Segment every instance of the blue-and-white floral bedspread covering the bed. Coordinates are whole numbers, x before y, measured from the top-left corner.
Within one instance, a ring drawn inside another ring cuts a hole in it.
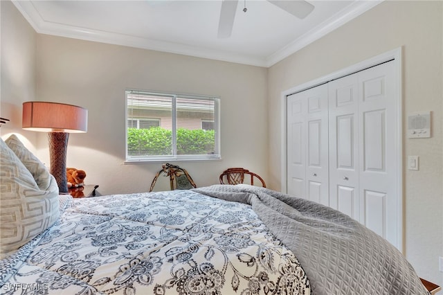
[[[1,294],[311,294],[251,206],[191,190],[68,198],[0,261]]]

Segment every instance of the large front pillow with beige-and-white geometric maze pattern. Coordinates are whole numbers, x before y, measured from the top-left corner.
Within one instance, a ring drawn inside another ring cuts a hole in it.
[[[41,190],[28,168],[0,138],[0,259],[17,251],[59,217],[57,183]]]

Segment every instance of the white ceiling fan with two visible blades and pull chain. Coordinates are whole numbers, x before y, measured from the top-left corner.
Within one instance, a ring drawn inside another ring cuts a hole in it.
[[[291,15],[304,19],[314,10],[314,6],[304,0],[267,0],[273,5],[282,8]],[[233,31],[235,12],[237,12],[238,0],[223,0],[221,2],[220,19],[219,19],[219,38],[228,38]],[[243,10],[246,12],[246,7]]]

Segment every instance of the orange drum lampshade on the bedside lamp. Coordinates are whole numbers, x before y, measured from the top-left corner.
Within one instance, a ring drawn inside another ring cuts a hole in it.
[[[24,102],[21,127],[39,132],[87,132],[88,110],[58,102]]]

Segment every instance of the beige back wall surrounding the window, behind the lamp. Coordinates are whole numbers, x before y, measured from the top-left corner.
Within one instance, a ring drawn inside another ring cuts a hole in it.
[[[124,164],[128,88],[220,96],[221,161],[177,163],[197,186],[217,184],[228,167],[244,166],[266,179],[264,68],[37,35],[36,69],[38,100],[88,109],[88,132],[70,135],[67,166],[86,170],[86,183],[99,184],[102,194],[147,191],[161,169],[161,163]],[[48,161],[46,143],[38,156]]]

